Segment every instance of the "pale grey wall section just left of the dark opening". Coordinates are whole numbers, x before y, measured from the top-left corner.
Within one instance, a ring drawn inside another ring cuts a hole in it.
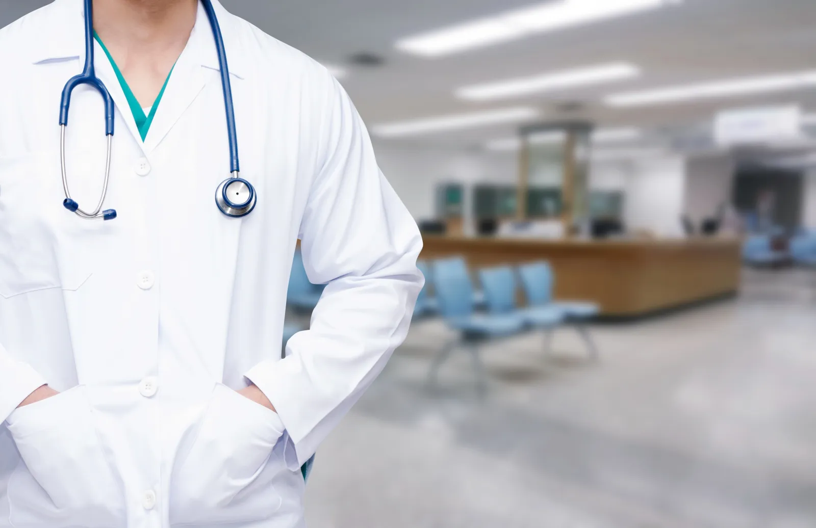
[[[685,163],[685,206],[695,224],[731,203],[736,163],[729,154],[689,158]]]

